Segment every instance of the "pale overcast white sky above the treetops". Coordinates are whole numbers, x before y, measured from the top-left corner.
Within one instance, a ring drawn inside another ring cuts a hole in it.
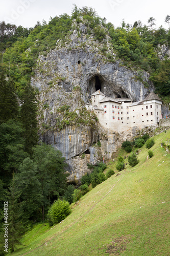
[[[120,26],[122,19],[134,24],[141,20],[147,25],[148,19],[156,19],[156,27],[168,28],[164,20],[170,15],[169,0],[1,0],[0,20],[6,23],[34,27],[37,21],[50,20],[63,13],[71,14],[73,4],[78,7],[88,6],[96,10],[102,18],[106,17],[115,27]]]

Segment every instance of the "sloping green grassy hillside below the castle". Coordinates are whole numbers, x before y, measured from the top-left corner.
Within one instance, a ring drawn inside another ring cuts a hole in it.
[[[139,164],[92,189],[62,223],[37,225],[12,255],[170,255],[167,138],[155,136],[151,159],[143,146]]]

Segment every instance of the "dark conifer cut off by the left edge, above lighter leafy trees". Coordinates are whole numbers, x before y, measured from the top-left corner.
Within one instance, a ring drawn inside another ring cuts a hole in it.
[[[0,123],[9,119],[16,119],[18,115],[18,101],[15,94],[15,83],[6,80],[4,72],[0,75]]]

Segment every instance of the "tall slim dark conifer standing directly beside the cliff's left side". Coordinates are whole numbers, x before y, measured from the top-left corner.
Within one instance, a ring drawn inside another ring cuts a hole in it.
[[[38,142],[37,128],[37,103],[36,93],[30,83],[27,84],[21,96],[20,120],[25,129],[24,137],[26,139],[26,151],[32,154],[32,147]]]

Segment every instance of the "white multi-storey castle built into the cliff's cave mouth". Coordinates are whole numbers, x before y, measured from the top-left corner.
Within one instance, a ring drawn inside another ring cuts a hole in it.
[[[111,98],[100,90],[91,95],[91,104],[86,109],[93,111],[102,126],[115,132],[125,132],[136,126],[157,125],[162,118],[162,100],[150,93],[143,101],[133,102],[129,98]]]

